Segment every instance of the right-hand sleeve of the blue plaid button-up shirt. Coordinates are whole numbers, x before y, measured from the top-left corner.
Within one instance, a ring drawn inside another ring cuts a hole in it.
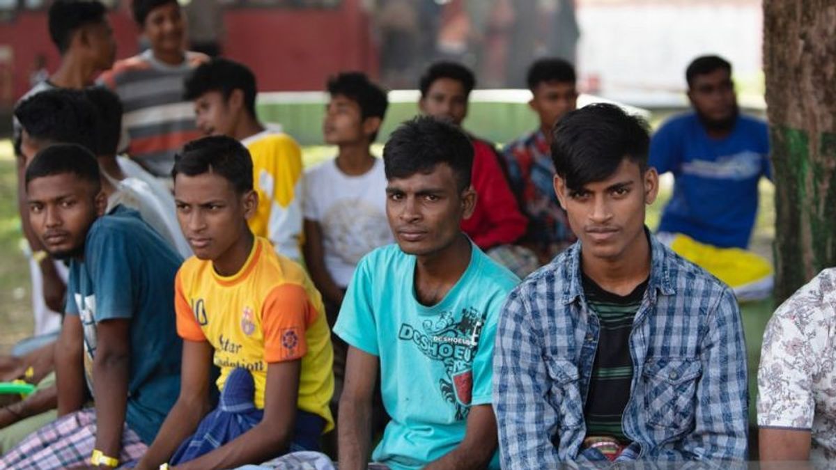
[[[747,458],[749,381],[737,299],[723,289],[702,339],[702,375],[696,382],[694,430],[671,452],[685,460]]]

